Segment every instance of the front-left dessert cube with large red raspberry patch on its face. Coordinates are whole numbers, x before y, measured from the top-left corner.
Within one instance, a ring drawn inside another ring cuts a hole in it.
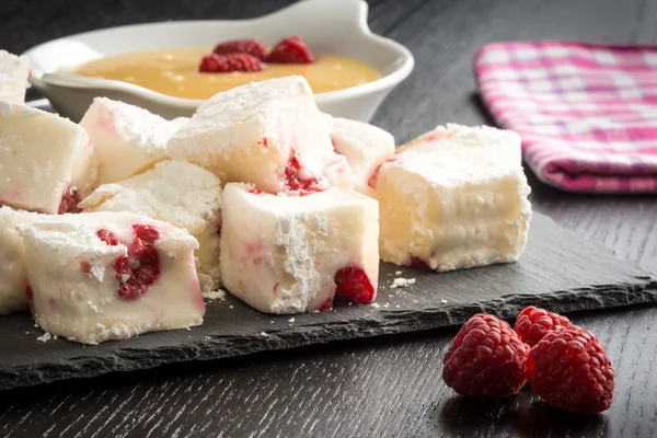
[[[44,331],[96,344],[203,323],[187,232],[130,212],[42,216],[19,231]]]

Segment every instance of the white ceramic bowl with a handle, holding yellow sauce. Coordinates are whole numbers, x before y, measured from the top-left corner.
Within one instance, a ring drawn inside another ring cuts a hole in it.
[[[163,22],[87,32],[41,44],[24,55],[32,62],[32,84],[58,113],[73,120],[100,95],[174,118],[192,115],[203,100],[172,97],[120,81],[44,73],[126,51],[210,47],[240,37],[274,45],[284,36],[299,35],[315,54],[353,57],[381,72],[377,81],[315,95],[325,113],[369,122],[383,99],[411,73],[414,60],[401,44],[371,33],[367,12],[361,0],[304,0],[253,20]]]

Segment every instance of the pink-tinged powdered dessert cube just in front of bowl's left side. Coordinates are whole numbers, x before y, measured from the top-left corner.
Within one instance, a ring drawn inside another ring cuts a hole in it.
[[[115,183],[169,158],[175,123],[127,103],[96,97],[80,122],[99,154],[96,186]]]

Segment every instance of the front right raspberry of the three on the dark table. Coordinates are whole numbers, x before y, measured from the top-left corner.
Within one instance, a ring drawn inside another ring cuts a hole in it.
[[[550,332],[533,346],[527,380],[548,404],[570,414],[598,414],[613,397],[613,369],[602,344],[576,325]]]

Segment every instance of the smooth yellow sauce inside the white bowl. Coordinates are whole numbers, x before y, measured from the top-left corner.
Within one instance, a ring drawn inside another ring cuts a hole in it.
[[[200,73],[198,65],[211,48],[176,48],[122,54],[100,58],[72,71],[76,74],[134,83],[163,94],[208,99],[220,91],[253,81],[303,76],[314,93],[324,93],[376,81],[373,67],[337,55],[322,55],[310,65],[266,64],[257,72]]]

